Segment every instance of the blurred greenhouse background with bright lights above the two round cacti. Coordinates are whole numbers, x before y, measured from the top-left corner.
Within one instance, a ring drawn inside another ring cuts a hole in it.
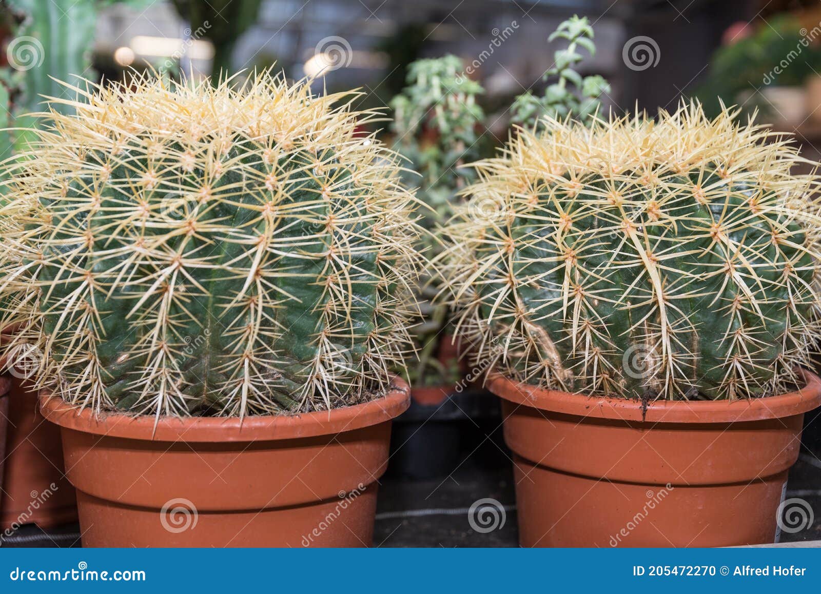
[[[671,107],[697,95],[764,106],[802,132],[821,121],[821,5],[798,0],[9,0],[3,44],[30,31],[47,60],[89,53],[89,66],[118,80],[126,68],[207,75],[268,68],[317,76],[318,90],[360,88],[368,107],[387,106],[421,57],[461,57],[484,85],[488,129],[504,134],[507,107],[539,90],[561,45],[548,34],[587,16],[597,52],[581,74],[600,74],[619,111]],[[26,5],[34,7],[26,15]],[[16,10],[13,10],[16,9]],[[44,28],[62,21],[72,46]],[[17,21],[17,22],[15,22]],[[802,33],[803,32],[803,33]],[[809,44],[805,44],[809,42]],[[6,57],[5,55],[3,57]],[[24,57],[25,59],[25,57]],[[36,59],[36,57],[35,57]],[[776,72],[778,70],[779,72]],[[71,72],[71,74],[77,74]],[[89,71],[85,72],[86,75]],[[800,126],[799,126],[800,125]]]

